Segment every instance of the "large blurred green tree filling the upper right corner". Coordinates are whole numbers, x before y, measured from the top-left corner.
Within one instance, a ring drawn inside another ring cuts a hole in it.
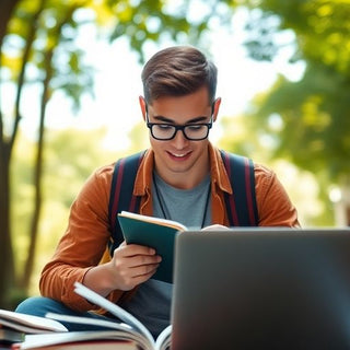
[[[273,61],[288,47],[291,62],[305,62],[299,81],[279,77],[257,96],[250,109],[255,132],[269,136],[275,158],[315,173],[326,198],[329,184],[350,184],[350,3],[260,0],[254,5],[259,10],[252,11],[248,24],[250,56]]]

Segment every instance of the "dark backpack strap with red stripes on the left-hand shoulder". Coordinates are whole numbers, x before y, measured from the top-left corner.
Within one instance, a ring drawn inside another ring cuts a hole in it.
[[[140,197],[133,196],[133,184],[144,151],[122,158],[115,164],[109,192],[108,219],[110,225],[112,244],[109,250],[122,242],[122,233],[117,220],[117,213],[127,210],[138,212]]]

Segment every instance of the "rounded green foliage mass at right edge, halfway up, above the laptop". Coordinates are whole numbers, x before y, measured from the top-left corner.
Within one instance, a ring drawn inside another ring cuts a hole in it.
[[[340,73],[310,63],[300,82],[281,78],[276,83],[256,115],[258,128],[276,133],[276,156],[288,156],[308,171],[327,170],[337,182],[350,172],[349,92]],[[272,122],[276,113],[278,130]]]

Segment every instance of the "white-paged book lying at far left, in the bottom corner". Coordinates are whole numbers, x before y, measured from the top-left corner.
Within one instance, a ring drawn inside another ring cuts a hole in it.
[[[18,330],[23,334],[68,331],[62,324],[55,319],[25,315],[8,310],[0,310],[0,326]]]

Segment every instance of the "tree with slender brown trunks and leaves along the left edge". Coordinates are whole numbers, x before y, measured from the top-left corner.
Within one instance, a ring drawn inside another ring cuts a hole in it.
[[[14,100],[12,118],[3,116],[1,114],[1,149],[7,150],[7,158],[1,159],[1,168],[4,170],[4,174],[9,174],[11,154],[15,139],[18,137],[18,130],[20,120],[25,117],[22,106],[22,96],[25,86],[30,84],[36,84],[42,89],[42,94],[38,97],[39,104],[39,122],[38,122],[38,137],[37,137],[37,152],[34,160],[34,184],[35,184],[35,197],[32,223],[28,232],[31,237],[30,247],[27,252],[27,259],[24,271],[21,276],[16,276],[14,280],[14,264],[13,256],[4,255],[7,259],[0,268],[0,276],[3,281],[3,291],[0,293],[1,304],[7,304],[7,298],[10,295],[9,291],[14,285],[26,289],[28,279],[33,270],[35,245],[37,241],[37,225],[39,220],[39,213],[42,208],[42,166],[43,166],[43,151],[44,151],[44,130],[45,130],[45,116],[46,107],[50,96],[52,94],[55,83],[59,81],[55,79],[59,77],[67,78],[68,73],[63,74],[62,69],[67,70],[69,67],[69,79],[66,79],[65,85],[61,85],[66,93],[74,100],[77,103],[79,96],[83,91],[89,90],[91,86],[90,71],[84,69],[82,65],[74,66],[80,52],[78,50],[69,50],[69,42],[71,38],[67,37],[67,26],[74,27],[72,23],[72,14],[77,10],[77,3],[62,7],[60,1],[46,1],[40,0],[37,2],[21,1],[15,8],[14,15],[10,19],[7,26],[5,36],[3,36],[1,46],[1,83],[7,83],[7,86],[15,85],[16,94]],[[49,19],[55,19],[51,25],[47,25]],[[66,32],[63,32],[63,27]],[[66,49],[66,56],[68,57],[67,63],[55,61],[55,58],[59,56],[59,50]],[[56,57],[55,55],[56,54]],[[75,68],[75,69],[74,69]],[[31,69],[31,77],[27,74],[27,70]],[[8,74],[5,74],[8,72]],[[4,78],[3,78],[4,77]],[[77,83],[79,82],[80,83]],[[78,89],[80,86],[80,89]],[[8,125],[5,121],[12,121]],[[9,127],[10,126],[10,127]],[[4,152],[3,152],[4,153]],[[2,178],[1,178],[2,179]],[[8,243],[4,252],[12,252],[12,235],[10,225],[10,185],[9,178],[2,179],[4,187],[4,196],[1,197],[1,201],[8,208],[8,211],[3,213],[1,225],[7,228],[2,230],[2,237]],[[2,213],[2,212],[1,212]],[[10,268],[9,268],[10,266]]]

